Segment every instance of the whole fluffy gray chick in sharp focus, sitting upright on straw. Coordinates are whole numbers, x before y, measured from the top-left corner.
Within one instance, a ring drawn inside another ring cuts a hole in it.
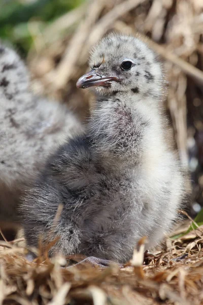
[[[177,219],[184,178],[166,142],[160,63],[138,38],[109,35],[77,86],[99,93],[85,135],[61,145],[24,198],[28,245],[126,262],[142,236],[157,245]],[[63,209],[54,218],[59,204]]]

